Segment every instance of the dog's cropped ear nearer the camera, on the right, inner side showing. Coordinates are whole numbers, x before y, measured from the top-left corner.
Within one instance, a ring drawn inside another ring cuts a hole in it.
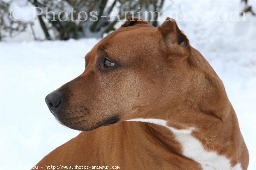
[[[174,19],[167,17],[165,22],[158,27],[158,29],[161,31],[166,45],[177,43],[184,50],[189,50],[189,40],[186,35],[180,31]]]

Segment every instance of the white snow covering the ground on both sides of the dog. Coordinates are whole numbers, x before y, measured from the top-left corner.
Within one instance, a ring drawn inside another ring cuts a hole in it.
[[[199,11],[199,21],[180,21],[178,25],[223,80],[249,149],[249,170],[254,170],[256,17],[247,14],[245,22],[205,20],[208,11],[241,10],[240,2],[198,2],[166,3],[164,11]],[[1,170],[8,166],[31,167],[79,133],[54,119],[44,97],[82,73],[83,57],[97,41],[0,42]]]

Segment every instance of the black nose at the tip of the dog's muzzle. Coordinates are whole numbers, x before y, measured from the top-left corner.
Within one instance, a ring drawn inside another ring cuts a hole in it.
[[[54,91],[45,97],[45,102],[52,112],[54,112],[61,105],[61,100],[62,96],[58,91]]]

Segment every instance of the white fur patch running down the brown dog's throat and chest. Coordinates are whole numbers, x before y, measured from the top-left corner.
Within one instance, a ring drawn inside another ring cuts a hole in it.
[[[127,121],[154,123],[168,128],[175,135],[177,142],[182,145],[183,156],[197,161],[203,170],[242,170],[240,163],[232,167],[226,156],[204,150],[202,143],[191,135],[193,127],[185,130],[175,129],[167,126],[167,121],[162,119],[130,119]]]

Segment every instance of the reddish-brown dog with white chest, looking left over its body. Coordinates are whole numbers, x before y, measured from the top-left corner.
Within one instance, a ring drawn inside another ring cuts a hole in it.
[[[224,86],[174,20],[154,28],[128,18],[85,59],[79,77],[46,97],[61,124],[84,132],[38,167],[247,169]]]

